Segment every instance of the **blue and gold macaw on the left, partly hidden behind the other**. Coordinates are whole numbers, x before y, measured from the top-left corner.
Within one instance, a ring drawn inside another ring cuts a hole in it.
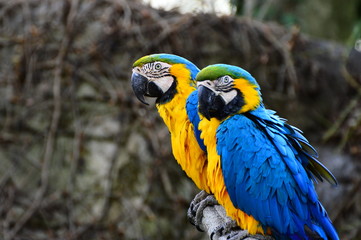
[[[199,69],[185,58],[152,54],[133,64],[132,88],[137,98],[156,98],[156,107],[171,134],[175,159],[198,188],[210,192],[207,157],[198,130],[198,95],[195,76]]]

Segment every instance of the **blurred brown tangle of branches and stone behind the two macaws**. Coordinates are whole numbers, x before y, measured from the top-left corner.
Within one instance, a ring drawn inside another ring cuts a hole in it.
[[[207,239],[130,87],[159,52],[250,71],[338,178],[317,188],[341,239],[361,239],[360,0],[1,0],[0,33],[0,239]]]

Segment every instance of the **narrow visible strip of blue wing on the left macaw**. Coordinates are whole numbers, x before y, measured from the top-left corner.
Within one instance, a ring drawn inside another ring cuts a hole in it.
[[[198,91],[193,91],[187,98],[186,103],[187,115],[191,123],[193,124],[194,135],[200,148],[203,151],[207,151],[204,145],[203,139],[201,139],[201,131],[198,129],[199,122],[201,121],[198,115]]]

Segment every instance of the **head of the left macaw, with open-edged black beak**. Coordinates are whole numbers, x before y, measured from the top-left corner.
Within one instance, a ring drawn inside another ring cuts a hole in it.
[[[132,88],[144,104],[144,96],[156,98],[156,103],[171,101],[175,94],[195,89],[194,79],[199,69],[185,58],[173,54],[152,54],[133,64]]]

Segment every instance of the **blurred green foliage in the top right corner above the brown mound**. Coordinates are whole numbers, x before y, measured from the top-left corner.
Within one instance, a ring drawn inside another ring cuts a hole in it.
[[[236,15],[298,26],[312,36],[345,43],[361,20],[361,0],[230,0]]]

